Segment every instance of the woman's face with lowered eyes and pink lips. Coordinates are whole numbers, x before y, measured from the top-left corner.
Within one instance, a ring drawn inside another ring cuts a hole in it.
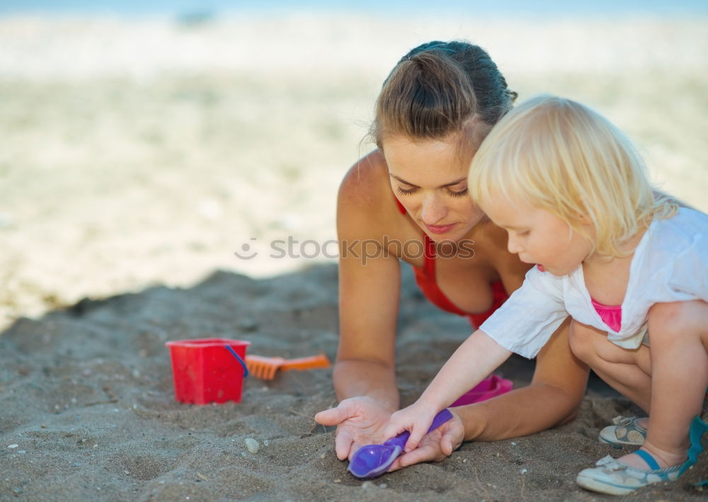
[[[467,195],[472,154],[460,155],[456,140],[384,142],[396,198],[431,239],[459,241],[484,216]]]

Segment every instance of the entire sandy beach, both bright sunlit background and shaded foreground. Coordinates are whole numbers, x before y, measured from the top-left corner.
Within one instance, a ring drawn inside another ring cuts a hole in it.
[[[0,19],[0,500],[604,500],[574,477],[622,453],[598,430],[636,409],[597,380],[573,423],[364,483],[312,419],[336,404],[331,370],[249,378],[240,404],[189,406],[173,398],[164,342],[333,358],[334,258],[303,255],[335,238],[336,187],[370,148],[387,69],[430,38],[484,45],[522,98],[599,108],[665,190],[708,210],[704,26]],[[273,257],[288,237],[292,256]],[[244,244],[253,259],[234,256]],[[469,329],[408,268],[401,299],[409,403]],[[522,358],[501,368],[517,386],[531,373]],[[678,483],[632,500],[702,496]]]

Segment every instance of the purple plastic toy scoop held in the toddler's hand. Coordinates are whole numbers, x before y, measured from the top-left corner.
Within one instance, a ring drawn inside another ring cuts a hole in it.
[[[450,410],[445,408],[440,411],[433,423],[430,424],[428,433],[442,426],[452,418]],[[406,432],[397,435],[395,438],[384,441],[382,445],[365,445],[360,447],[352,455],[352,460],[349,462],[348,471],[358,478],[372,478],[378,474],[386,472],[394,460],[404,452],[404,446],[411,433]]]

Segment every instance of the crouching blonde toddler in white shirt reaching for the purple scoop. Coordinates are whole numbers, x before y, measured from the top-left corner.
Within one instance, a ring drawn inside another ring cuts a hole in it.
[[[509,251],[536,266],[386,435],[410,430],[412,450],[435,413],[511,353],[535,357],[571,316],[573,353],[649,413],[641,448],[605,457],[578,484],[627,494],[678,479],[708,386],[708,216],[653,193],[617,127],[554,96],[498,122],[468,182]]]

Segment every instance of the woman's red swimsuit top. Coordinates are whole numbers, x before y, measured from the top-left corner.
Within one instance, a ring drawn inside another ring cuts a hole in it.
[[[401,215],[406,214],[406,208],[403,207],[401,202],[396,199],[396,205],[398,205]],[[479,328],[481,324],[486,321],[487,317],[491,316],[493,312],[501,307],[501,304],[508,298],[506,290],[504,290],[504,285],[501,280],[495,280],[490,283],[492,291],[492,304],[491,308],[487,312],[481,312],[479,314],[469,314],[469,312],[464,312],[464,310],[459,309],[457,305],[452,303],[445,293],[438,287],[438,282],[435,280],[435,241],[430,239],[428,234],[423,234],[423,241],[425,246],[425,253],[423,254],[423,266],[413,267],[413,272],[416,273],[416,283],[418,287],[421,288],[423,295],[430,300],[430,303],[435,305],[445,312],[451,312],[452,314],[457,314],[458,316],[466,316],[469,319],[470,324],[474,327]]]

